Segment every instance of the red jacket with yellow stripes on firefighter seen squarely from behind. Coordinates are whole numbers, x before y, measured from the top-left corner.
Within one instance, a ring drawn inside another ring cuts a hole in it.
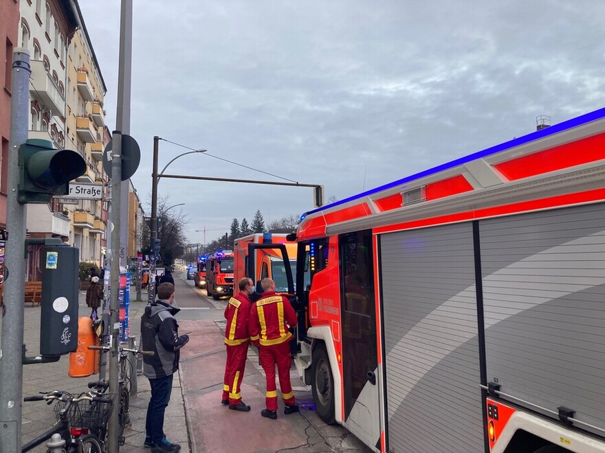
[[[290,301],[273,291],[265,291],[250,310],[250,338],[255,345],[279,345],[290,338],[289,327],[296,325],[296,312]]]

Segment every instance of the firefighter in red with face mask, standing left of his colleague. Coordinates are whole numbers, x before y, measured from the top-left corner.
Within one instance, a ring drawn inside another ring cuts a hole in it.
[[[244,277],[237,283],[239,292],[229,299],[225,307],[225,346],[227,361],[225,362],[225,378],[223,380],[222,404],[229,404],[232,410],[248,412],[250,406],[241,400],[241,380],[245,371],[248,356],[250,335],[248,334],[248,318],[250,317],[250,294],[254,292],[252,279]]]

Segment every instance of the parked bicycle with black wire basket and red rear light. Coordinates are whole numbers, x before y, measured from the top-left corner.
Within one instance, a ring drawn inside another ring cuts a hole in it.
[[[23,398],[24,402],[46,401],[55,403],[56,423],[50,430],[21,447],[21,452],[29,452],[44,441],[48,441],[47,453],[102,453],[104,427],[113,406],[113,397],[105,393],[83,393],[74,397],[71,393],[54,390],[42,395]]]

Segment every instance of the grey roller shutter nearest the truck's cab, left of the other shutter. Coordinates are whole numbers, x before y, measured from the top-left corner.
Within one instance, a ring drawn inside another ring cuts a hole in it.
[[[380,236],[388,446],[483,452],[472,225]]]

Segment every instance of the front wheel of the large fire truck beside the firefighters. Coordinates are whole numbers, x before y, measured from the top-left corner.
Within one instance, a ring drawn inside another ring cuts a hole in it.
[[[317,345],[313,351],[311,390],[320,418],[329,425],[336,423],[334,417],[334,378],[328,353],[323,344]]]

